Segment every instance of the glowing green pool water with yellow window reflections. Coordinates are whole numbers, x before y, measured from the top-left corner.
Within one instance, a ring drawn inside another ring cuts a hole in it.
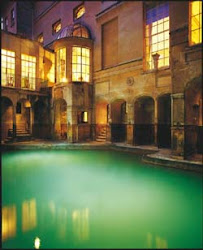
[[[3,248],[202,248],[200,174],[128,153],[2,155]]]

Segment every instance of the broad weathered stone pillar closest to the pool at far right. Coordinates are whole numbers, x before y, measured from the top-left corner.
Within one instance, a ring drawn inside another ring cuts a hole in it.
[[[172,94],[171,98],[172,154],[175,158],[184,159],[184,94]]]

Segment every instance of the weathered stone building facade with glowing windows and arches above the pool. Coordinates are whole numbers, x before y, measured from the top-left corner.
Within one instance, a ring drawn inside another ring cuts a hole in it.
[[[17,30],[2,33],[2,49],[16,53],[17,74],[15,86],[2,86],[3,96],[13,110],[18,98],[10,92],[26,93],[31,107],[40,100],[30,115],[34,137],[157,145],[178,158],[200,154],[201,6],[200,1],[35,2],[32,40]],[[8,15],[8,8],[4,12]],[[15,46],[30,49],[13,46],[15,39]],[[20,53],[36,57],[39,89],[22,88]]]

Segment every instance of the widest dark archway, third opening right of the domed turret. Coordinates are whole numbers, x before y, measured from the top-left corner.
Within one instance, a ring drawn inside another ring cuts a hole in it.
[[[134,103],[134,144],[150,145],[155,139],[155,102],[151,96],[140,96]]]

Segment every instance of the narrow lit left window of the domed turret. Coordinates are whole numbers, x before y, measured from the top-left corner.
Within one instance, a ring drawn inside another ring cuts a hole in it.
[[[66,79],[66,48],[56,51],[57,59],[57,82],[67,82]]]

